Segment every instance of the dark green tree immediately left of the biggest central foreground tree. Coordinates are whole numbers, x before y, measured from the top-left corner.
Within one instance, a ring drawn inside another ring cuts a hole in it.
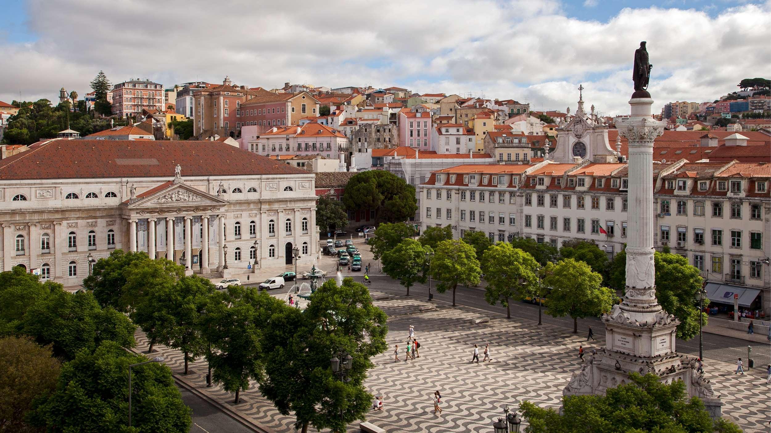
[[[249,381],[263,381],[263,359],[276,347],[264,344],[272,317],[286,307],[281,300],[255,287],[231,286],[212,295],[200,329],[211,343],[207,354],[214,382],[235,393],[235,402]]]

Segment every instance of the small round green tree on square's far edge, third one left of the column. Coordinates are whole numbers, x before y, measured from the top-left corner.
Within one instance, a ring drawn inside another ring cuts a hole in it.
[[[476,250],[463,240],[443,240],[436,245],[436,253],[431,260],[431,276],[440,281],[436,291],[443,294],[453,290],[453,307],[455,290],[458,284],[476,286],[480,284],[482,270],[480,261],[476,260]]]

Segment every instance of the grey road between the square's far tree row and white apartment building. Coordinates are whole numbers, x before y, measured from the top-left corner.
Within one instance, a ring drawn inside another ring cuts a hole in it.
[[[358,281],[362,280],[363,277],[354,274],[354,278]],[[435,300],[452,302],[453,294],[451,291],[447,291],[444,294],[438,294],[436,293],[435,287],[435,284],[432,284],[431,293],[433,293]],[[399,285],[399,281],[392,280],[390,277],[372,277],[372,289],[394,294],[406,293],[405,288]],[[428,285],[418,284],[414,287],[410,287],[409,294],[410,297],[414,295],[416,298],[425,300],[428,298]],[[484,300],[483,290],[478,288],[458,287],[456,290],[456,304],[506,314],[506,308],[501,307],[500,304],[495,306],[487,304],[487,301]],[[537,321],[538,306],[524,302],[514,302],[511,304],[511,316]],[[570,329],[573,328],[573,320],[570,317],[551,317],[542,313],[541,321],[549,324],[558,324]],[[604,330],[602,322],[598,318],[592,317],[578,321],[578,333],[585,336],[590,325],[594,328],[595,334],[601,333]],[[769,356],[769,354],[771,354],[771,346],[769,346],[769,344],[756,344],[751,341],[734,337],[724,337],[716,334],[703,334],[703,341],[705,359],[736,363],[737,357],[746,358],[747,346],[751,345],[752,358],[755,360],[756,367],[771,364],[771,356]],[[698,356],[699,336],[697,335],[689,341],[678,339],[677,349],[678,352],[683,354]]]

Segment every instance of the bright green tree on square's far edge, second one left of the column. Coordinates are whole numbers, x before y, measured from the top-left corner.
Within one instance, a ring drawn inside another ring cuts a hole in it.
[[[538,286],[538,262],[523,250],[499,242],[482,256],[482,272],[487,287],[485,300],[490,305],[498,301],[506,307],[506,317],[511,318],[509,299],[522,300]]]

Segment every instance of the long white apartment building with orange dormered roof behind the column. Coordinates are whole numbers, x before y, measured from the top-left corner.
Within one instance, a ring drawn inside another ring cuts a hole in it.
[[[597,243],[610,257],[627,237],[625,163],[462,165],[417,187],[421,227],[483,231],[498,242],[531,237],[561,247]],[[771,164],[655,163],[655,246],[702,270],[713,302],[771,314]],[[730,299],[726,297],[730,294]]]

